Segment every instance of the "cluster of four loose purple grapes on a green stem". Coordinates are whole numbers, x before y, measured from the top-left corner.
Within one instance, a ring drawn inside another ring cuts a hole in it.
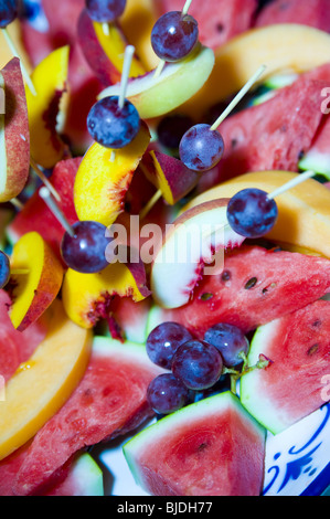
[[[219,324],[204,340],[192,337],[178,322],[163,322],[148,336],[147,353],[153,363],[169,370],[153,379],[148,388],[150,406],[158,414],[183,407],[198,394],[213,388],[225,372],[243,363],[248,340],[235,326]]]

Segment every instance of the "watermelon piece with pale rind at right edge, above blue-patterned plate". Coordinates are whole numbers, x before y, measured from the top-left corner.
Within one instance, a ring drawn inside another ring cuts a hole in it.
[[[330,301],[318,300],[260,327],[252,341],[248,363],[270,359],[264,370],[241,380],[247,411],[274,434],[309,415],[329,399]]]

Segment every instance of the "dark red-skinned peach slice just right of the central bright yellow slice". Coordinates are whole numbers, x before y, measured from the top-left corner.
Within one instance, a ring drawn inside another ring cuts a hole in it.
[[[198,184],[200,176],[184,163],[160,151],[151,150],[140,168],[147,179],[161,191],[168,204],[174,205]]]

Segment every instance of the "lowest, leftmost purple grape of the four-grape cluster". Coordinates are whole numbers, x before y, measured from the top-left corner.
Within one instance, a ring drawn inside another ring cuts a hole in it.
[[[153,379],[147,390],[149,405],[158,414],[169,414],[183,407],[190,392],[172,373],[163,373]]]

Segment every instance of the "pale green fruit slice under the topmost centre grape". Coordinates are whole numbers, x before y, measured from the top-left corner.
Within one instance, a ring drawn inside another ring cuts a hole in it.
[[[198,45],[196,50],[178,63],[166,64],[162,73],[155,71],[128,82],[127,98],[136,106],[142,119],[168,114],[190,99],[202,86],[214,66],[211,49]],[[119,95],[120,84],[105,88],[98,98]]]

